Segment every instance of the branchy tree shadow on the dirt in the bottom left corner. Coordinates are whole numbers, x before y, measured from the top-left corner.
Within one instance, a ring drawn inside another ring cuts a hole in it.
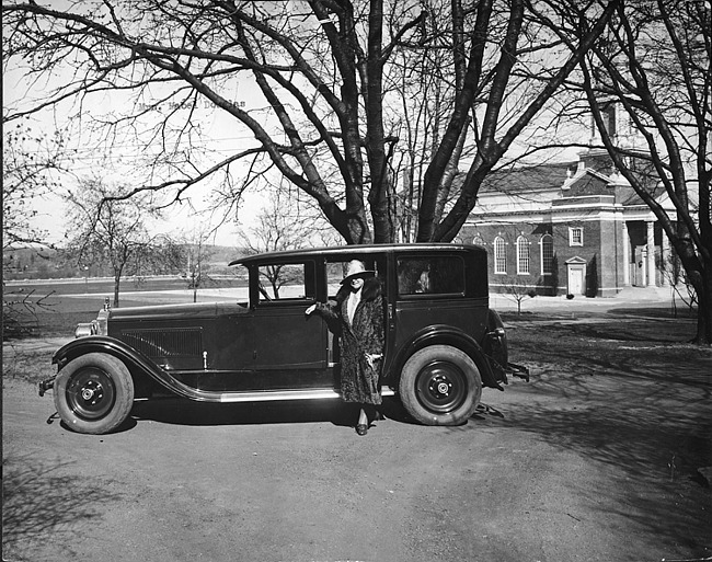
[[[3,560],[39,560],[45,542],[60,551],[56,559],[77,557],[72,544],[92,534],[102,517],[97,506],[118,498],[102,482],[67,474],[72,462],[45,463],[30,454],[3,457]]]

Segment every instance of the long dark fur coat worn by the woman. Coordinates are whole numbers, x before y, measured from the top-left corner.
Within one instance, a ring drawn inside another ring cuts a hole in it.
[[[319,303],[319,312],[329,329],[341,337],[341,391],[344,401],[380,404],[379,376],[382,360],[371,367],[365,354],[383,353],[383,297],[377,277],[364,279],[361,300],[356,307],[353,324],[346,311],[351,288],[343,286],[336,303]]]

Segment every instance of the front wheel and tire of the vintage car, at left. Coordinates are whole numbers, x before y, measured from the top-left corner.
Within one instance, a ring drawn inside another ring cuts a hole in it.
[[[89,353],[69,362],[54,385],[55,408],[77,433],[113,432],[134,405],[134,381],[126,365],[103,353]]]

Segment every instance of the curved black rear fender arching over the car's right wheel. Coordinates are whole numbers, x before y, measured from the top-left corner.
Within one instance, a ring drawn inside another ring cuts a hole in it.
[[[490,360],[480,344],[467,333],[448,325],[429,325],[416,333],[411,342],[401,348],[394,362],[391,364],[394,367],[393,371],[400,372],[407,358],[418,349],[436,344],[451,345],[462,349],[480,369],[483,386],[504,390],[499,386]]]

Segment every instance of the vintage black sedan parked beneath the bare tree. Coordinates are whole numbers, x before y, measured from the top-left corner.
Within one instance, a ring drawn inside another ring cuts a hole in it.
[[[483,387],[503,390],[507,340],[489,307],[487,255],[468,244],[379,244],[250,255],[238,302],[116,308],[79,324],[53,357],[57,412],[72,431],[104,434],[134,400],[166,393],[202,402],[340,398],[338,337],[305,314],[333,298],[342,268],[365,262],[383,283],[382,394],[426,425],[456,425]]]

